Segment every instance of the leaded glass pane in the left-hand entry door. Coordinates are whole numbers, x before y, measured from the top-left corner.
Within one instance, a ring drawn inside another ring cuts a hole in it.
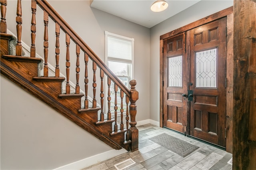
[[[182,87],[182,55],[168,58],[168,86]]]

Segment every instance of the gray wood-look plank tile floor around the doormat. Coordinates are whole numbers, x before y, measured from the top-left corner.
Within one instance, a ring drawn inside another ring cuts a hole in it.
[[[232,170],[232,165],[227,163],[232,158],[231,153],[152,124],[137,128],[139,129],[139,150],[126,152],[83,170],[116,170],[115,164],[129,158],[132,158],[136,164],[124,170]],[[167,133],[199,148],[188,156],[182,157],[149,140],[161,133]]]

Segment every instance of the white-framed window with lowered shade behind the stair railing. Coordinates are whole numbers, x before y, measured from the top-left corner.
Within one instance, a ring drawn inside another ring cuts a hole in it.
[[[130,88],[133,78],[134,39],[105,31],[105,59],[110,70]],[[114,112],[114,84],[111,84],[111,112]],[[118,107],[120,95],[118,95]],[[125,98],[124,98],[125,101]],[[107,101],[106,101],[107,102]],[[107,107],[107,106],[106,106]],[[125,109],[125,108],[124,108]],[[118,108],[118,111],[120,108]]]

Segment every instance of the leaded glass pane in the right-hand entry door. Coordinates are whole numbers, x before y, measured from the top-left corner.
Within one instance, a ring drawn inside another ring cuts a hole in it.
[[[217,86],[217,48],[196,53],[196,87]]]

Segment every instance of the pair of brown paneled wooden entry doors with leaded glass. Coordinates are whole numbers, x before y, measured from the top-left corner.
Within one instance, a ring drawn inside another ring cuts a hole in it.
[[[226,147],[226,18],[163,40],[163,126]]]

